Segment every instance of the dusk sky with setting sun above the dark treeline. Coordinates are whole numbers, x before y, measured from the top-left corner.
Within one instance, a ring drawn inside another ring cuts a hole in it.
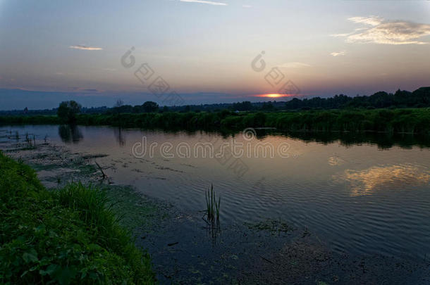
[[[0,0],[0,67],[0,110],[413,91],[430,1]]]

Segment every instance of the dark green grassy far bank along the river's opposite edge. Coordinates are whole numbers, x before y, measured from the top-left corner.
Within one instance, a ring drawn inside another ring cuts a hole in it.
[[[0,117],[0,124],[59,124],[56,116]],[[303,110],[297,112],[141,113],[78,115],[78,125],[121,125],[162,129],[243,129],[276,127],[285,131],[411,132],[430,134],[429,108]]]

